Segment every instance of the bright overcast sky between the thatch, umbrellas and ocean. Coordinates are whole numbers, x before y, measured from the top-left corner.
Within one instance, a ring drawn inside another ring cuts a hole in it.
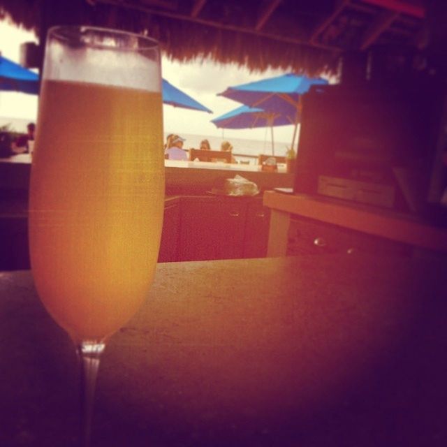
[[[20,44],[36,41],[34,34],[18,29],[7,22],[0,22],[0,52],[4,57],[19,62]],[[196,101],[199,101],[213,111],[198,112],[171,105],[163,105],[164,129],[169,133],[194,133],[198,135],[221,136],[221,129],[217,129],[210,122],[211,119],[222,115],[240,103],[217,94],[227,87],[251,82],[258,79],[281,75],[282,71],[267,71],[264,73],[249,73],[245,68],[235,65],[214,64],[211,61],[194,61],[179,63],[162,60],[163,78],[168,80]],[[37,97],[34,95],[0,91],[0,117],[14,117],[34,121],[37,113]],[[289,142],[293,133],[293,126],[281,126],[274,129],[276,141]],[[225,138],[248,138],[253,140],[270,140],[268,129],[226,130]]]

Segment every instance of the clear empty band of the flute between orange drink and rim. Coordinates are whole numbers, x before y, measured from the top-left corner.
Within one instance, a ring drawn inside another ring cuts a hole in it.
[[[62,47],[54,42],[45,52],[44,80],[88,82],[161,91],[159,61],[132,51]]]

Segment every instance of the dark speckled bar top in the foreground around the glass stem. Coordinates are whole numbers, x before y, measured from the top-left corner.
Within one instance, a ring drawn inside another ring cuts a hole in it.
[[[447,268],[302,256],[157,266],[112,336],[94,446],[446,446]],[[77,359],[0,273],[1,446],[75,446]]]

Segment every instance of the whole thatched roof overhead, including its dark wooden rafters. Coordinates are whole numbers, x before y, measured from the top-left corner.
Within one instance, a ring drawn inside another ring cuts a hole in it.
[[[95,24],[158,39],[172,59],[252,70],[335,71],[339,54],[425,45],[427,2],[416,0],[0,0],[0,15],[36,34]],[[422,31],[421,31],[422,30]],[[421,37],[422,36],[422,37]]]

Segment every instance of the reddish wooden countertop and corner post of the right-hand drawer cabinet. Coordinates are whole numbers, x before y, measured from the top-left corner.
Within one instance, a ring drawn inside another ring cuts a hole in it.
[[[265,191],[263,203],[272,209],[270,234],[276,238],[272,244],[282,249],[286,244],[289,219],[295,215],[422,249],[447,252],[447,228],[432,226],[407,214],[305,194],[274,191]],[[277,254],[281,254],[281,251]]]

